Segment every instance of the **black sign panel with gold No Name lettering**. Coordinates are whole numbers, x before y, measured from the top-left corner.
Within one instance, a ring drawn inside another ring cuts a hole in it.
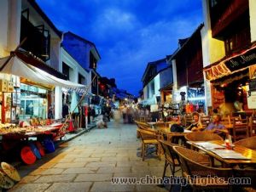
[[[237,71],[256,63],[256,48],[248,50],[246,53],[224,61],[230,71]]]

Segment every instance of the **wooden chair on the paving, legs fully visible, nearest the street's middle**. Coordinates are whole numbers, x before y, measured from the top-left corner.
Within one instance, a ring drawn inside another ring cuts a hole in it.
[[[142,139],[142,157],[143,161],[145,159],[145,153],[148,151],[148,145],[154,144],[156,147],[156,154],[159,156],[160,159],[160,152],[159,152],[159,142],[157,140],[157,135],[154,132],[148,132],[147,130],[143,130],[141,128],[137,128],[137,133],[139,133],[140,138]]]

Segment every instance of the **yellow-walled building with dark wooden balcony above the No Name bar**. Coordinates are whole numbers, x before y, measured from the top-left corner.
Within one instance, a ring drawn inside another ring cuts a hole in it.
[[[203,0],[207,106],[219,108],[224,115],[256,108],[250,99],[254,93],[248,94],[255,78],[255,9],[253,0]]]

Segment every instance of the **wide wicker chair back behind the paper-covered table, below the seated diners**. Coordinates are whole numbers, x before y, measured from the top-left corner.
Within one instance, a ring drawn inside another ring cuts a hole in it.
[[[211,133],[211,132],[192,132],[192,133],[187,133],[185,135],[185,139],[188,141],[214,141],[214,140],[221,140],[223,141],[224,139],[220,137],[216,133]]]

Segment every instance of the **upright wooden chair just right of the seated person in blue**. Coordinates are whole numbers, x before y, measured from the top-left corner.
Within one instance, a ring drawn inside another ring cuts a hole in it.
[[[248,117],[246,119],[233,119],[233,138],[234,142],[241,138],[249,137]]]

